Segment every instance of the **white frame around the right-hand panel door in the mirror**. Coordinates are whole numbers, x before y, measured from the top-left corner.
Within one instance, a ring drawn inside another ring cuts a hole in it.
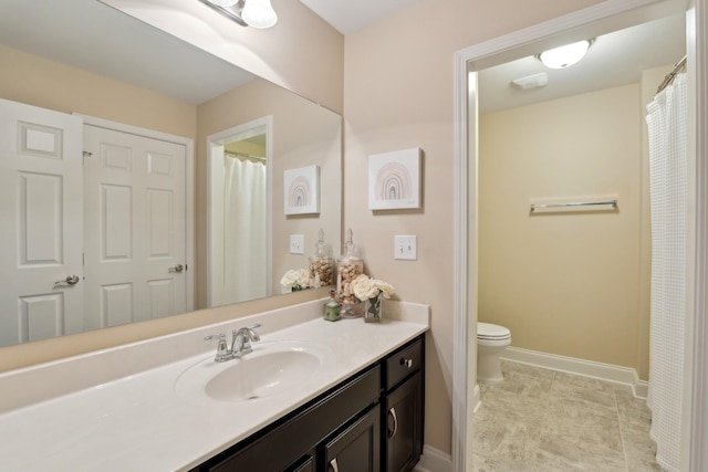
[[[185,265],[188,268],[185,273],[186,282],[186,312],[195,311],[195,143],[191,138],[156,132],[154,129],[142,128],[139,126],[126,125],[124,123],[112,122],[110,119],[97,118],[95,116],[74,113],[84,120],[84,125],[111,129],[119,133],[127,133],[150,139],[164,140],[185,146]]]

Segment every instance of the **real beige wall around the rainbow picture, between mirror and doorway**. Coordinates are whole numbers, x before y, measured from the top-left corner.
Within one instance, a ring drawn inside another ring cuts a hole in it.
[[[421,0],[345,39],[344,227],[396,297],[431,306],[425,441],[442,451],[451,449],[454,53],[595,3]],[[424,208],[367,210],[367,156],[410,147],[425,154]],[[417,261],[394,261],[395,234],[418,235]]]

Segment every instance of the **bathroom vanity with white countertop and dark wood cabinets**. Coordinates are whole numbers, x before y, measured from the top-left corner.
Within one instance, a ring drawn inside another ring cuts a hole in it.
[[[381,324],[331,323],[322,303],[0,375],[0,468],[412,470],[428,307],[391,302]],[[206,335],[254,324],[252,354],[214,361]],[[112,380],[86,387],[106,370]],[[232,388],[233,376],[247,381]],[[42,401],[22,402],[45,386]]]

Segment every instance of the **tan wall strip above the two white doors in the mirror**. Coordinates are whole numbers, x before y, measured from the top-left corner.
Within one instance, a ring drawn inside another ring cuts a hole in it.
[[[0,97],[195,138],[197,107],[0,44]]]

